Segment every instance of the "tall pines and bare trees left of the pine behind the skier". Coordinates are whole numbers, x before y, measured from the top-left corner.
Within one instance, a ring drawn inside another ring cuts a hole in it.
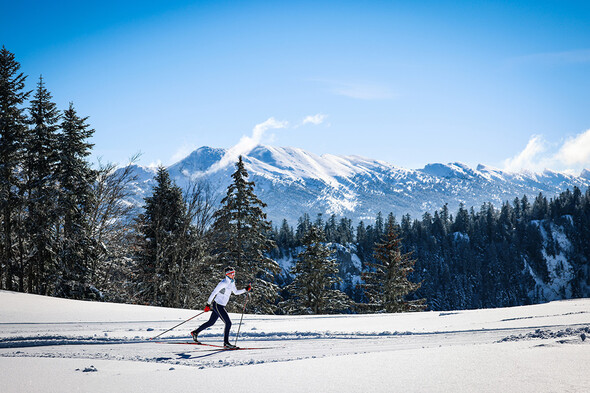
[[[58,109],[42,77],[26,90],[19,70],[3,47],[0,289],[171,307],[202,300],[206,187],[183,193],[160,168],[144,206],[129,204],[135,158],[93,168],[88,117],[73,103]]]

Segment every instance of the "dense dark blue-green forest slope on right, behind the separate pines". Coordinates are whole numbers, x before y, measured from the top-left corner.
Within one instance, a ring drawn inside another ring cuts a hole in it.
[[[539,194],[486,203],[479,210],[463,205],[454,216],[445,205],[421,219],[398,221],[381,213],[353,228],[351,220],[318,216],[326,240],[348,245],[363,262],[363,274],[374,263],[375,248],[393,226],[402,250],[416,259],[413,282],[422,283],[408,299],[425,298],[430,309],[503,307],[590,296],[590,190],[575,187],[548,200]],[[304,214],[295,228],[283,221],[274,228],[276,258],[288,258],[302,245],[301,234],[312,225]],[[566,271],[567,270],[567,271]],[[342,283],[357,302],[364,292],[354,282]]]

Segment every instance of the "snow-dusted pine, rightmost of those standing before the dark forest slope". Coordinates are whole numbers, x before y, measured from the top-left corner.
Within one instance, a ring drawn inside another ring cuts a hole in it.
[[[403,312],[423,310],[425,300],[405,300],[420,283],[410,282],[408,275],[414,271],[416,260],[410,253],[402,253],[401,239],[395,225],[388,225],[382,242],[375,246],[374,261],[368,262],[369,270],[363,273],[367,308],[373,312]]]

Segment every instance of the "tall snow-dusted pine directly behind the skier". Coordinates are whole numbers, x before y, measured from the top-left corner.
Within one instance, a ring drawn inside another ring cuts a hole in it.
[[[247,180],[248,172],[241,156],[232,179],[221,208],[213,215],[211,232],[216,265],[219,271],[223,266],[233,266],[241,286],[252,284],[250,312],[272,313],[278,297],[274,277],[280,267],[266,255],[274,248],[270,239],[272,226],[263,211],[266,204],[254,193],[254,182]]]

